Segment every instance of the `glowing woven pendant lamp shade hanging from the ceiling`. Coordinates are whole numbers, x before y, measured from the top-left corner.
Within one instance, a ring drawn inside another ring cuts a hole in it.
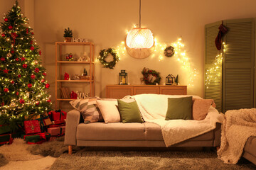
[[[132,28],[127,34],[126,44],[133,49],[151,48],[154,37],[147,28]]]

